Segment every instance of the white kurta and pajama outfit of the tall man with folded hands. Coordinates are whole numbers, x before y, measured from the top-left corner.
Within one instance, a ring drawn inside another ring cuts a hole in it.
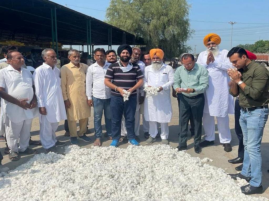
[[[215,61],[206,64],[207,51],[199,54],[197,63],[205,66],[209,75],[209,87],[205,92],[205,106],[203,125],[206,140],[215,140],[215,117],[217,117],[220,143],[231,142],[231,131],[229,128],[228,114],[234,114],[234,101],[229,94],[228,82],[230,78],[227,74],[229,68],[233,68],[227,57],[228,50],[220,50],[214,56]]]

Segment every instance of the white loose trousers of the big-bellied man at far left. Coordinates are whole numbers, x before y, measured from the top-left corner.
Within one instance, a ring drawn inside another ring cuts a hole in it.
[[[12,122],[5,121],[6,142],[10,152],[23,152],[29,146],[32,119]],[[19,147],[18,147],[19,143]]]

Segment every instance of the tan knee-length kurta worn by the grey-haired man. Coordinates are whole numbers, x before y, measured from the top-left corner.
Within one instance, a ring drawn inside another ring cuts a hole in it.
[[[63,100],[69,100],[70,108],[66,108],[67,119],[76,121],[91,116],[91,109],[87,102],[86,96],[86,64],[79,63],[77,68],[71,62],[63,65],[61,68],[61,87]]]

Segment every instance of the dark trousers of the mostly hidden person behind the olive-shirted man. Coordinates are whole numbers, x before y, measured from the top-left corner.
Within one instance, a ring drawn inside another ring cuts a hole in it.
[[[235,100],[235,133],[239,140],[238,157],[244,158],[245,146],[243,144],[243,132],[239,124],[240,110],[239,100]]]

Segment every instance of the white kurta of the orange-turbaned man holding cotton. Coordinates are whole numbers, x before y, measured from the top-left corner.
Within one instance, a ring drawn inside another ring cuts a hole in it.
[[[144,87],[149,85],[163,88],[157,95],[145,99],[146,121],[170,122],[172,118],[170,88],[174,84],[174,70],[171,66],[162,64],[162,67],[155,71],[149,65],[145,68],[144,76]]]

